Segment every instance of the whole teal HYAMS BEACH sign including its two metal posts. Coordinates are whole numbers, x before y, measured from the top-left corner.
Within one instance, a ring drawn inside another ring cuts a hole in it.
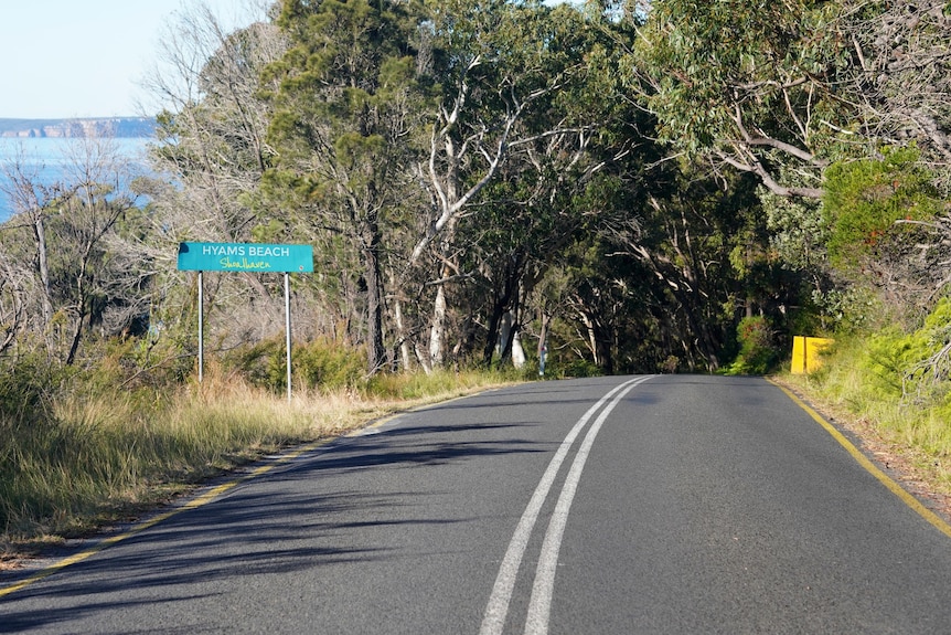
[[[290,374],[290,274],[313,273],[311,245],[258,243],[179,243],[179,271],[199,272],[199,382],[204,374],[204,272],[284,273],[285,328],[287,331],[287,399]]]

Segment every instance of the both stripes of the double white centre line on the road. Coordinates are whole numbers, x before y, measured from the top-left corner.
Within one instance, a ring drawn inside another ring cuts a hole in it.
[[[571,508],[571,501],[575,498],[575,491],[578,488],[578,481],[581,478],[581,472],[585,469],[585,463],[588,461],[588,453],[591,445],[595,443],[595,437],[601,430],[605,420],[615,410],[624,395],[633,388],[651,379],[651,377],[640,377],[628,380],[624,383],[616,387],[605,396],[602,396],[595,405],[588,409],[581,419],[571,427],[571,431],[562,442],[558,452],[552,457],[552,462],[542,475],[532,499],[528,501],[525,511],[522,514],[519,526],[515,528],[515,533],[512,536],[512,541],[509,543],[509,549],[505,551],[505,558],[502,560],[502,565],[499,568],[499,575],[495,578],[495,585],[492,588],[492,595],[489,597],[489,604],[485,606],[485,615],[482,617],[482,628],[480,635],[502,635],[505,627],[505,616],[509,613],[509,602],[512,599],[512,590],[515,586],[515,579],[519,575],[519,568],[522,564],[522,558],[525,554],[525,548],[528,544],[528,538],[532,536],[532,530],[538,519],[538,514],[545,499],[548,497],[548,491],[555,483],[555,477],[564,463],[565,457],[575,444],[575,440],[581,433],[581,430],[588,424],[588,421],[601,410],[601,414],[591,424],[588,434],[578,447],[575,454],[575,461],[571,463],[571,468],[565,477],[565,483],[562,486],[562,494],[558,496],[558,502],[555,505],[555,511],[552,519],[548,521],[548,530],[545,532],[545,540],[542,543],[542,552],[538,557],[538,567],[535,570],[535,582],[532,586],[532,599],[528,603],[528,613],[525,621],[525,635],[545,635],[548,632],[548,615],[552,611],[552,592],[555,588],[555,570],[558,565],[558,551],[562,548],[562,535],[565,531],[565,523],[568,521],[568,511]],[[608,403],[610,402],[610,403]]]

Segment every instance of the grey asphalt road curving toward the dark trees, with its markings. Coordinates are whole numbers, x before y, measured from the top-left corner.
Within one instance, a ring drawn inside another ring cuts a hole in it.
[[[886,485],[761,379],[539,382],[0,579],[0,632],[949,633],[951,529]]]

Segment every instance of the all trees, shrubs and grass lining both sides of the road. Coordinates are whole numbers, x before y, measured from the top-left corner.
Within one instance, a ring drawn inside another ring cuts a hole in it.
[[[418,400],[777,372],[938,485],[951,427],[943,0],[200,3],[147,166],[2,166],[0,532],[70,536]],[[291,277],[181,242],[307,244]],[[196,381],[197,298],[209,377]]]

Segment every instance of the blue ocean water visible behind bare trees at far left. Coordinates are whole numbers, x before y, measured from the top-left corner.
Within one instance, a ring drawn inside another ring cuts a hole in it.
[[[128,159],[139,172],[147,171],[146,150],[152,139],[124,137],[109,139],[116,152]],[[22,171],[43,184],[68,180],[67,172],[75,165],[74,156],[82,148],[82,139],[62,137],[0,138],[0,222],[8,220],[13,209],[7,192],[10,181],[7,167],[19,162]]]

